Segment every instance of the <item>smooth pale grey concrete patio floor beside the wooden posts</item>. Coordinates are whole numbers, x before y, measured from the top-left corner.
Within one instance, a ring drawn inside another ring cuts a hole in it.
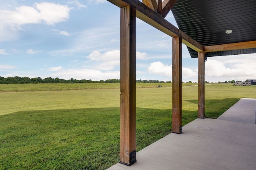
[[[255,114],[256,103],[252,101],[256,100],[241,100],[250,104],[236,103],[232,109],[254,107]],[[136,157],[132,166],[118,163],[109,170],[255,170],[256,124],[196,119],[182,127],[182,134],[171,133],[137,152]]]

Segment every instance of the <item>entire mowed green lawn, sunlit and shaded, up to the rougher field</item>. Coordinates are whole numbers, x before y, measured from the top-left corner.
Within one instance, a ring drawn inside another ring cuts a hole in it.
[[[197,118],[198,87],[182,87],[182,125]],[[17,85],[18,86],[18,85]],[[106,169],[119,161],[119,89],[0,93],[0,169]],[[137,151],[172,130],[172,88],[138,88]],[[205,86],[217,118],[256,86]]]

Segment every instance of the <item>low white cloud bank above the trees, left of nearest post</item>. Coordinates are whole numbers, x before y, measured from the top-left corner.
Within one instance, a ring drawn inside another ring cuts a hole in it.
[[[92,79],[92,80],[106,80],[106,79],[120,79],[120,71],[102,72],[97,69],[68,69],[52,73],[51,77],[59,77],[60,79]]]

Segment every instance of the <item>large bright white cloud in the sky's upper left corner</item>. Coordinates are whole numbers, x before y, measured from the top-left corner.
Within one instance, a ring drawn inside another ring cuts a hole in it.
[[[17,39],[17,31],[24,24],[54,25],[69,19],[71,8],[51,2],[34,3],[34,6],[19,6],[15,10],[0,9],[0,41]]]

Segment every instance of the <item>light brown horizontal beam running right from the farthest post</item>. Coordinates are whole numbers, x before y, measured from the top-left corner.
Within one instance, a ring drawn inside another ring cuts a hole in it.
[[[256,48],[256,41],[205,46],[204,52],[208,53],[208,52],[228,51],[228,50],[248,49],[248,48]]]

